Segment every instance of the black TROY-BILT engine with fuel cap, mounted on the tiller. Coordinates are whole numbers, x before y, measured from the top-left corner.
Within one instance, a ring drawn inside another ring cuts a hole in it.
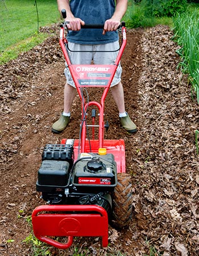
[[[113,154],[81,153],[74,162],[73,144],[47,144],[36,190],[49,204],[95,204],[110,215],[117,166]]]

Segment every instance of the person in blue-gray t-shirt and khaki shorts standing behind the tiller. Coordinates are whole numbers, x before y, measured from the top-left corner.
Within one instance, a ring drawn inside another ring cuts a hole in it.
[[[72,64],[91,64],[92,61],[94,64],[113,64],[117,52],[102,51],[113,51],[119,48],[117,28],[122,16],[126,13],[127,0],[117,0],[116,4],[115,0],[57,0],[57,5],[60,13],[62,9],[67,11],[68,46],[72,50],[70,53]],[[81,29],[81,25],[84,26],[84,24],[104,24],[104,27],[103,30]],[[77,92],[67,67],[64,72],[67,78],[64,88],[64,112],[53,123],[53,133],[61,133],[68,126],[71,106]],[[119,111],[122,127],[128,133],[135,133],[136,125],[125,110],[121,74],[122,67],[119,64],[110,89]]]

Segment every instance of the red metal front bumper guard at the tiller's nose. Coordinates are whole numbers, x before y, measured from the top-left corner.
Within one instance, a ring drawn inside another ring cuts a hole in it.
[[[32,212],[32,226],[36,238],[59,249],[70,247],[73,237],[102,237],[102,246],[108,245],[107,212],[98,205],[41,205]],[[68,242],[49,237],[68,237]]]

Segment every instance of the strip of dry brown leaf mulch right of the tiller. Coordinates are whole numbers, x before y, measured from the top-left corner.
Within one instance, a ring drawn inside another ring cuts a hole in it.
[[[146,221],[142,237],[163,255],[198,255],[199,163],[195,130],[198,105],[187,76],[177,69],[178,48],[167,27],[142,37],[143,71],[139,80],[138,156],[134,205]],[[134,238],[140,239],[135,233]],[[143,251],[144,253],[144,251]],[[139,254],[138,254],[139,255]],[[141,254],[142,255],[142,254]]]

